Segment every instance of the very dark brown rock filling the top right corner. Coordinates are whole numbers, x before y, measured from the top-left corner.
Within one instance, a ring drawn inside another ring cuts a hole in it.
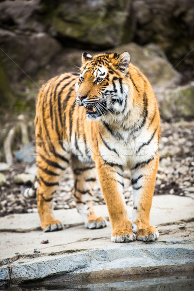
[[[194,51],[189,52],[194,48],[194,1],[135,0],[132,3],[135,41],[140,45],[154,42],[178,69],[189,66],[193,70]]]

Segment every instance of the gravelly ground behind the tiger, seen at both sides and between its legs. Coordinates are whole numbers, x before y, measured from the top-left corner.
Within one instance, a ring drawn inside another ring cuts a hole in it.
[[[155,195],[172,194],[194,197],[194,121],[162,122],[160,146],[161,162],[157,174]],[[21,194],[21,182],[16,181],[17,174],[36,173],[34,163],[14,163],[9,170],[1,172],[5,182],[0,187],[0,216],[12,213],[36,212],[36,199],[26,199]],[[126,203],[132,203],[130,173],[125,173]],[[54,198],[54,209],[75,208],[72,197],[73,177],[68,168]],[[94,191],[94,205],[105,204],[99,183]]]

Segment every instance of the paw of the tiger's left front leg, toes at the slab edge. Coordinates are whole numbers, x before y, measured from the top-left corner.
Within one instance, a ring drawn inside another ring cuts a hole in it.
[[[135,234],[132,229],[124,228],[114,230],[111,236],[111,242],[132,242],[136,240]]]

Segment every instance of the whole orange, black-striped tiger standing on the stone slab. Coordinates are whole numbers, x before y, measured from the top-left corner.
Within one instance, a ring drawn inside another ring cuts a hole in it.
[[[74,199],[85,226],[106,226],[92,206],[98,175],[112,224],[112,242],[154,241],[149,212],[159,163],[161,135],[157,101],[128,52],[82,55],[80,74],[49,80],[36,103],[37,203],[44,231],[62,229],[52,199],[71,164]],[[124,202],[123,171],[130,169],[133,222]]]

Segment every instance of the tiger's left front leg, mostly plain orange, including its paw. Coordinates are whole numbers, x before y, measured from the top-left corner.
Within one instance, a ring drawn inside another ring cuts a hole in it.
[[[123,170],[119,165],[106,164],[96,157],[96,168],[112,224],[112,242],[131,242],[136,239],[127,216],[124,201]]]

